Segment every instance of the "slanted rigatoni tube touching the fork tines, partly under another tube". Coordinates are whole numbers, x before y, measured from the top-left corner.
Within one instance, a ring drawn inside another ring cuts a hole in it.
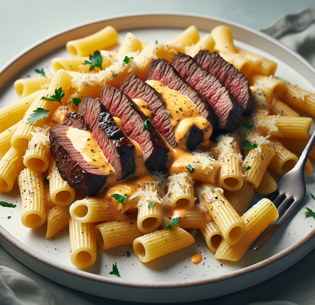
[[[218,260],[239,260],[254,240],[272,224],[279,216],[278,210],[269,199],[261,199],[252,206],[242,219],[246,224],[245,234],[236,244],[230,245],[224,239],[221,241],[215,258]]]

